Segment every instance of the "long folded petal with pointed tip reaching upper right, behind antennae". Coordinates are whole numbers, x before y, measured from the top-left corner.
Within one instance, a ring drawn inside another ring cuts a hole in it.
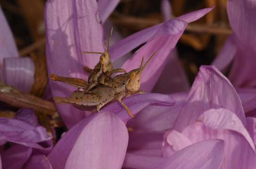
[[[193,14],[180,16],[164,23],[159,27],[155,35],[144,46],[140,47],[130,60],[124,63],[122,68],[127,71],[136,69],[139,67],[143,56],[145,60],[148,60],[151,54],[157,51],[156,56],[142,72],[140,80],[141,89],[147,92],[151,91],[165,68],[167,57],[172,53],[187,24],[206,15],[210,10],[212,8],[198,10]]]

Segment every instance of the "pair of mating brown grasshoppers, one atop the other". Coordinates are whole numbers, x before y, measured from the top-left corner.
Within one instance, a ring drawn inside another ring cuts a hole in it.
[[[101,107],[112,100],[117,100],[124,106],[128,115],[133,117],[129,108],[122,101],[122,98],[136,93],[145,93],[139,90],[140,75],[155,53],[151,55],[144,66],[142,57],[140,68],[133,69],[128,73],[126,73],[124,69],[113,69],[108,50],[111,34],[112,29],[108,38],[107,50],[104,53],[83,52],[83,54],[101,54],[100,61],[93,70],[85,68],[86,71],[90,70],[91,72],[88,83],[83,79],[51,75],[51,78],[55,81],[61,81],[78,88],[83,88],[83,91],[77,90],[73,92],[69,98],[55,97],[54,100],[57,103],[96,106],[96,110],[99,112]],[[111,78],[110,76],[115,72],[124,72],[124,74]]]

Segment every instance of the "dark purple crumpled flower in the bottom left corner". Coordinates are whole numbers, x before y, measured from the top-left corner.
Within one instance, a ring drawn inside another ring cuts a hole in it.
[[[50,135],[38,124],[36,115],[30,109],[19,110],[13,119],[0,118],[0,126],[0,145],[7,142],[10,145],[0,151],[3,169],[33,166],[33,161],[42,157],[46,159],[45,155],[52,149]],[[50,165],[47,160],[40,160],[38,164]],[[34,165],[34,168],[37,167]]]

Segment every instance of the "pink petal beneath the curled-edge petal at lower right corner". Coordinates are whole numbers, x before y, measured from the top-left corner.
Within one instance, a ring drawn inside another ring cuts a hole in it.
[[[214,130],[205,127],[201,122],[196,122],[185,128],[182,134],[192,143],[215,138],[223,139],[225,148],[222,169],[252,169],[256,166],[255,152],[244,136],[235,131]]]

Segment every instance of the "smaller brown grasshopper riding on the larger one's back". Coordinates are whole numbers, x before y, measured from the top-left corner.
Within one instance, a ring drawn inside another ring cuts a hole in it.
[[[73,85],[78,88],[83,88],[85,92],[88,92],[97,84],[104,84],[107,79],[111,78],[113,73],[124,72],[124,69],[113,69],[113,64],[110,60],[109,54],[109,43],[111,40],[113,28],[111,28],[110,35],[107,42],[107,50],[104,53],[101,52],[83,52],[83,54],[101,54],[99,57],[99,62],[94,67],[94,69],[90,69],[88,67],[84,67],[84,70],[90,73],[88,77],[88,83],[83,79],[72,78],[72,77],[58,77],[57,75],[51,74],[51,79],[54,81],[64,82],[69,85]]]

